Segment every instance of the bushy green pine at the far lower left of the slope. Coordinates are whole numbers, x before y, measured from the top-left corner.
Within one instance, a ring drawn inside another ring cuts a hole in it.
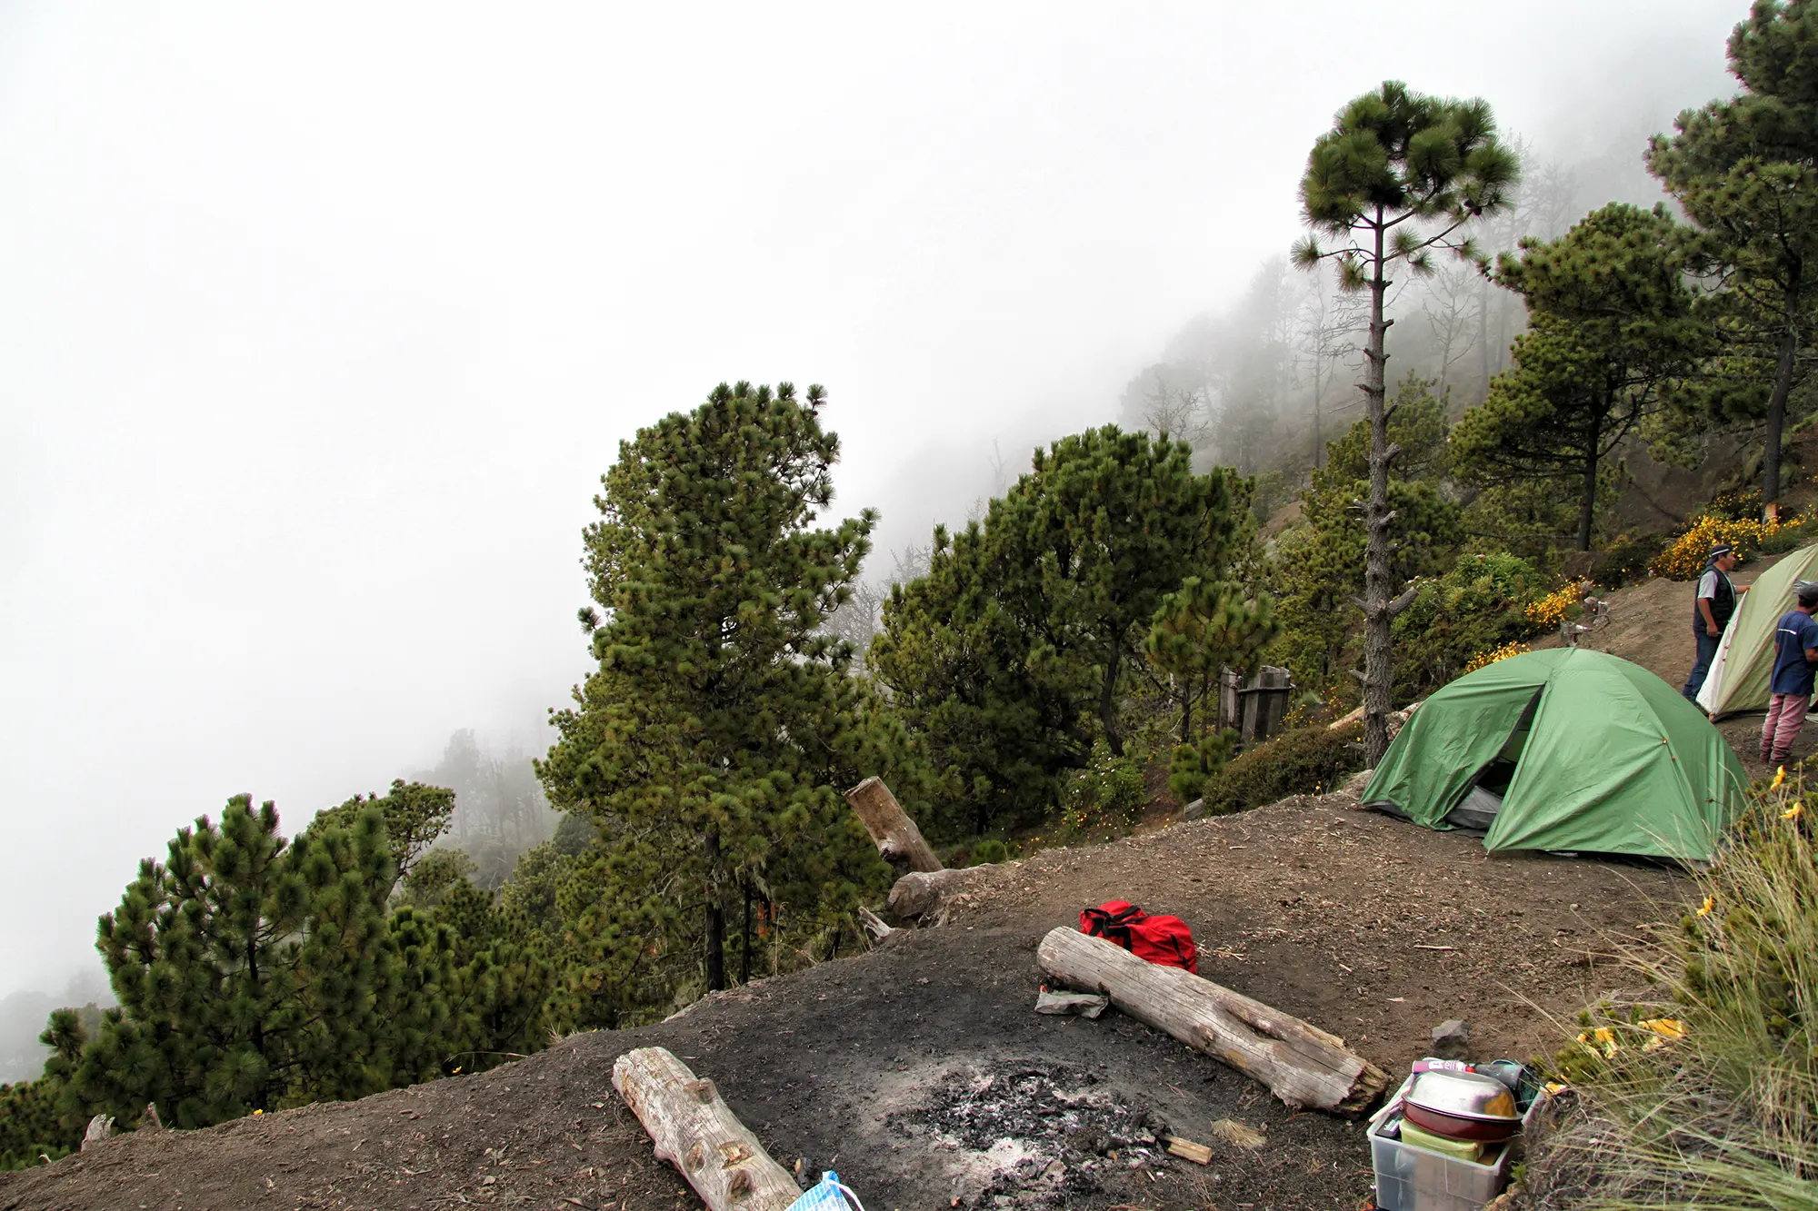
[[[122,1124],[156,1102],[165,1122],[202,1127],[387,1087],[389,893],[376,809],[293,844],[273,804],[242,795],[218,826],[180,829],[100,920],[120,1006],[82,1053],[80,1098]]]

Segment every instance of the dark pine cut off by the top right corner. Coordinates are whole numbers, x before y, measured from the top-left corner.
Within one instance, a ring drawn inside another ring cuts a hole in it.
[[[1818,325],[1818,4],[1756,0],[1729,38],[1743,91],[1685,111],[1647,167],[1711,236],[1707,304],[1727,356],[1705,393],[1722,418],[1765,420],[1762,502],[1780,500],[1787,398]]]

